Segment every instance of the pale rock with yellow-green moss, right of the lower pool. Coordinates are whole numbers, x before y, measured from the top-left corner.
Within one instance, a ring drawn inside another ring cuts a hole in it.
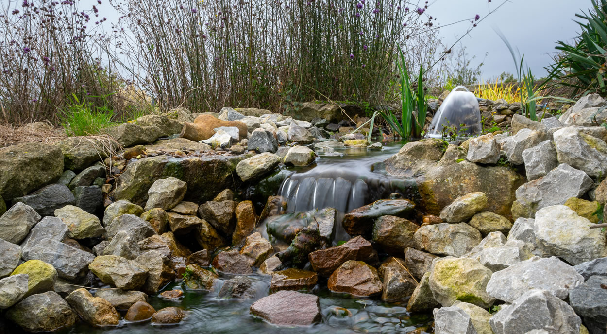
[[[429,285],[436,301],[449,307],[455,301],[489,308],[495,298],[487,293],[492,271],[475,259],[444,257],[436,259],[430,271]]]

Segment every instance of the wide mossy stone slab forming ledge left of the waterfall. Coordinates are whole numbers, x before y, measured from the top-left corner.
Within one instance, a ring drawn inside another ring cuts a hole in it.
[[[203,203],[212,200],[223,189],[239,182],[236,165],[252,154],[211,155],[208,157],[173,158],[167,155],[145,157],[129,164],[118,178],[114,198],[126,199],[144,206],[148,190],[156,180],[175,177],[188,183],[185,199]]]

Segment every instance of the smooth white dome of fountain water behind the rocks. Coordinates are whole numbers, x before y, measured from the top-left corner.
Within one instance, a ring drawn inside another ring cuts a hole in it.
[[[481,131],[478,99],[466,87],[457,86],[436,111],[428,134],[430,137],[440,138],[445,132],[472,136],[480,134]]]

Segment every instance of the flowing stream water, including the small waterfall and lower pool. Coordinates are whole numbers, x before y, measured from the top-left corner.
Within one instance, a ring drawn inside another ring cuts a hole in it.
[[[406,180],[395,180],[371,171],[371,166],[398,152],[400,143],[385,146],[383,151],[366,149],[335,149],[328,154],[319,151],[315,166],[283,169],[282,184],[275,194],[288,200],[288,211],[306,211],[328,206],[344,213],[373,200],[385,198],[398,191],[406,193],[410,188]],[[343,155],[339,155],[343,154]],[[341,219],[340,219],[341,220]],[[338,225],[341,225],[338,224]],[[339,230],[336,239],[339,238]],[[183,297],[172,301],[158,295],[149,296],[149,303],[159,310],[177,306],[185,309],[185,321],[174,326],[155,326],[149,321],[142,323],[121,322],[118,327],[95,328],[80,321],[61,334],[149,334],[149,333],[407,333],[416,327],[432,322],[430,315],[410,315],[406,303],[388,304],[379,298],[356,298],[332,293],[327,289],[327,279],[319,278],[311,293],[319,296],[322,322],[308,327],[278,327],[254,318],[249,314],[250,305],[268,295],[270,276],[249,275],[257,287],[252,299],[219,299],[217,294],[223,282],[233,276],[222,275],[213,291],[188,291],[181,282],[173,282],[164,290],[183,290]],[[91,291],[93,292],[93,290]],[[120,311],[123,313],[126,311]],[[9,325],[12,326],[12,325]],[[17,327],[7,333],[21,333]]]

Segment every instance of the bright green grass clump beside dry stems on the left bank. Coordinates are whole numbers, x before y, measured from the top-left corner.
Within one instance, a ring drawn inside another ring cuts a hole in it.
[[[115,124],[114,112],[106,106],[95,107],[92,104],[72,95],[69,105],[59,114],[60,124],[67,135],[94,135]]]

